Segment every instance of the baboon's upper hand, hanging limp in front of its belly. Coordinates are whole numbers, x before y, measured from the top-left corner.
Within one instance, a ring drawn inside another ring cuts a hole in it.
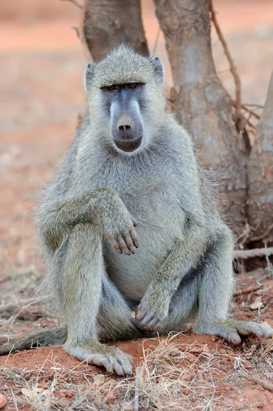
[[[139,246],[137,223],[118,195],[112,195],[102,213],[102,223],[109,245],[117,253],[134,254]]]

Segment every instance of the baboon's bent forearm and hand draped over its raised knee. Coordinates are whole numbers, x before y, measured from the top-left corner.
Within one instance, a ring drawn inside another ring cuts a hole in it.
[[[109,187],[94,188],[51,206],[40,221],[40,236],[55,251],[75,225],[99,221],[109,244],[118,253],[135,252],[138,247],[135,222],[118,194]]]

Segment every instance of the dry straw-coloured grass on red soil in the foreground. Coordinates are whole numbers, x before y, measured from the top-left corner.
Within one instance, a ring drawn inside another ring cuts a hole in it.
[[[244,364],[249,359],[258,373],[265,363],[272,370],[272,352],[272,342],[252,346],[237,356],[228,347],[226,353],[210,352],[207,344],[177,344],[174,336],[169,336],[160,340],[156,348],[144,349],[143,345],[137,378],[95,374],[83,364],[68,369],[55,362],[52,352],[34,370],[7,367],[0,375],[5,384],[10,382],[16,387],[12,389],[14,408],[10,410],[28,405],[39,411],[209,411],[223,406],[225,387],[235,384],[237,371],[248,372]],[[232,364],[234,372],[223,376],[220,370],[227,363]]]

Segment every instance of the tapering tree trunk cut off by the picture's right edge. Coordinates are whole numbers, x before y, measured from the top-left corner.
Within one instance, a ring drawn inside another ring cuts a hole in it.
[[[273,242],[273,73],[248,162],[248,219],[252,240]]]

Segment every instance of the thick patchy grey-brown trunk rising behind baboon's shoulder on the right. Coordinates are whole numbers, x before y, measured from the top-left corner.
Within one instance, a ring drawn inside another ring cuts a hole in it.
[[[222,205],[239,233],[246,224],[247,151],[213,64],[209,0],[154,3],[172,67],[174,112],[192,130],[205,167],[220,170]]]

